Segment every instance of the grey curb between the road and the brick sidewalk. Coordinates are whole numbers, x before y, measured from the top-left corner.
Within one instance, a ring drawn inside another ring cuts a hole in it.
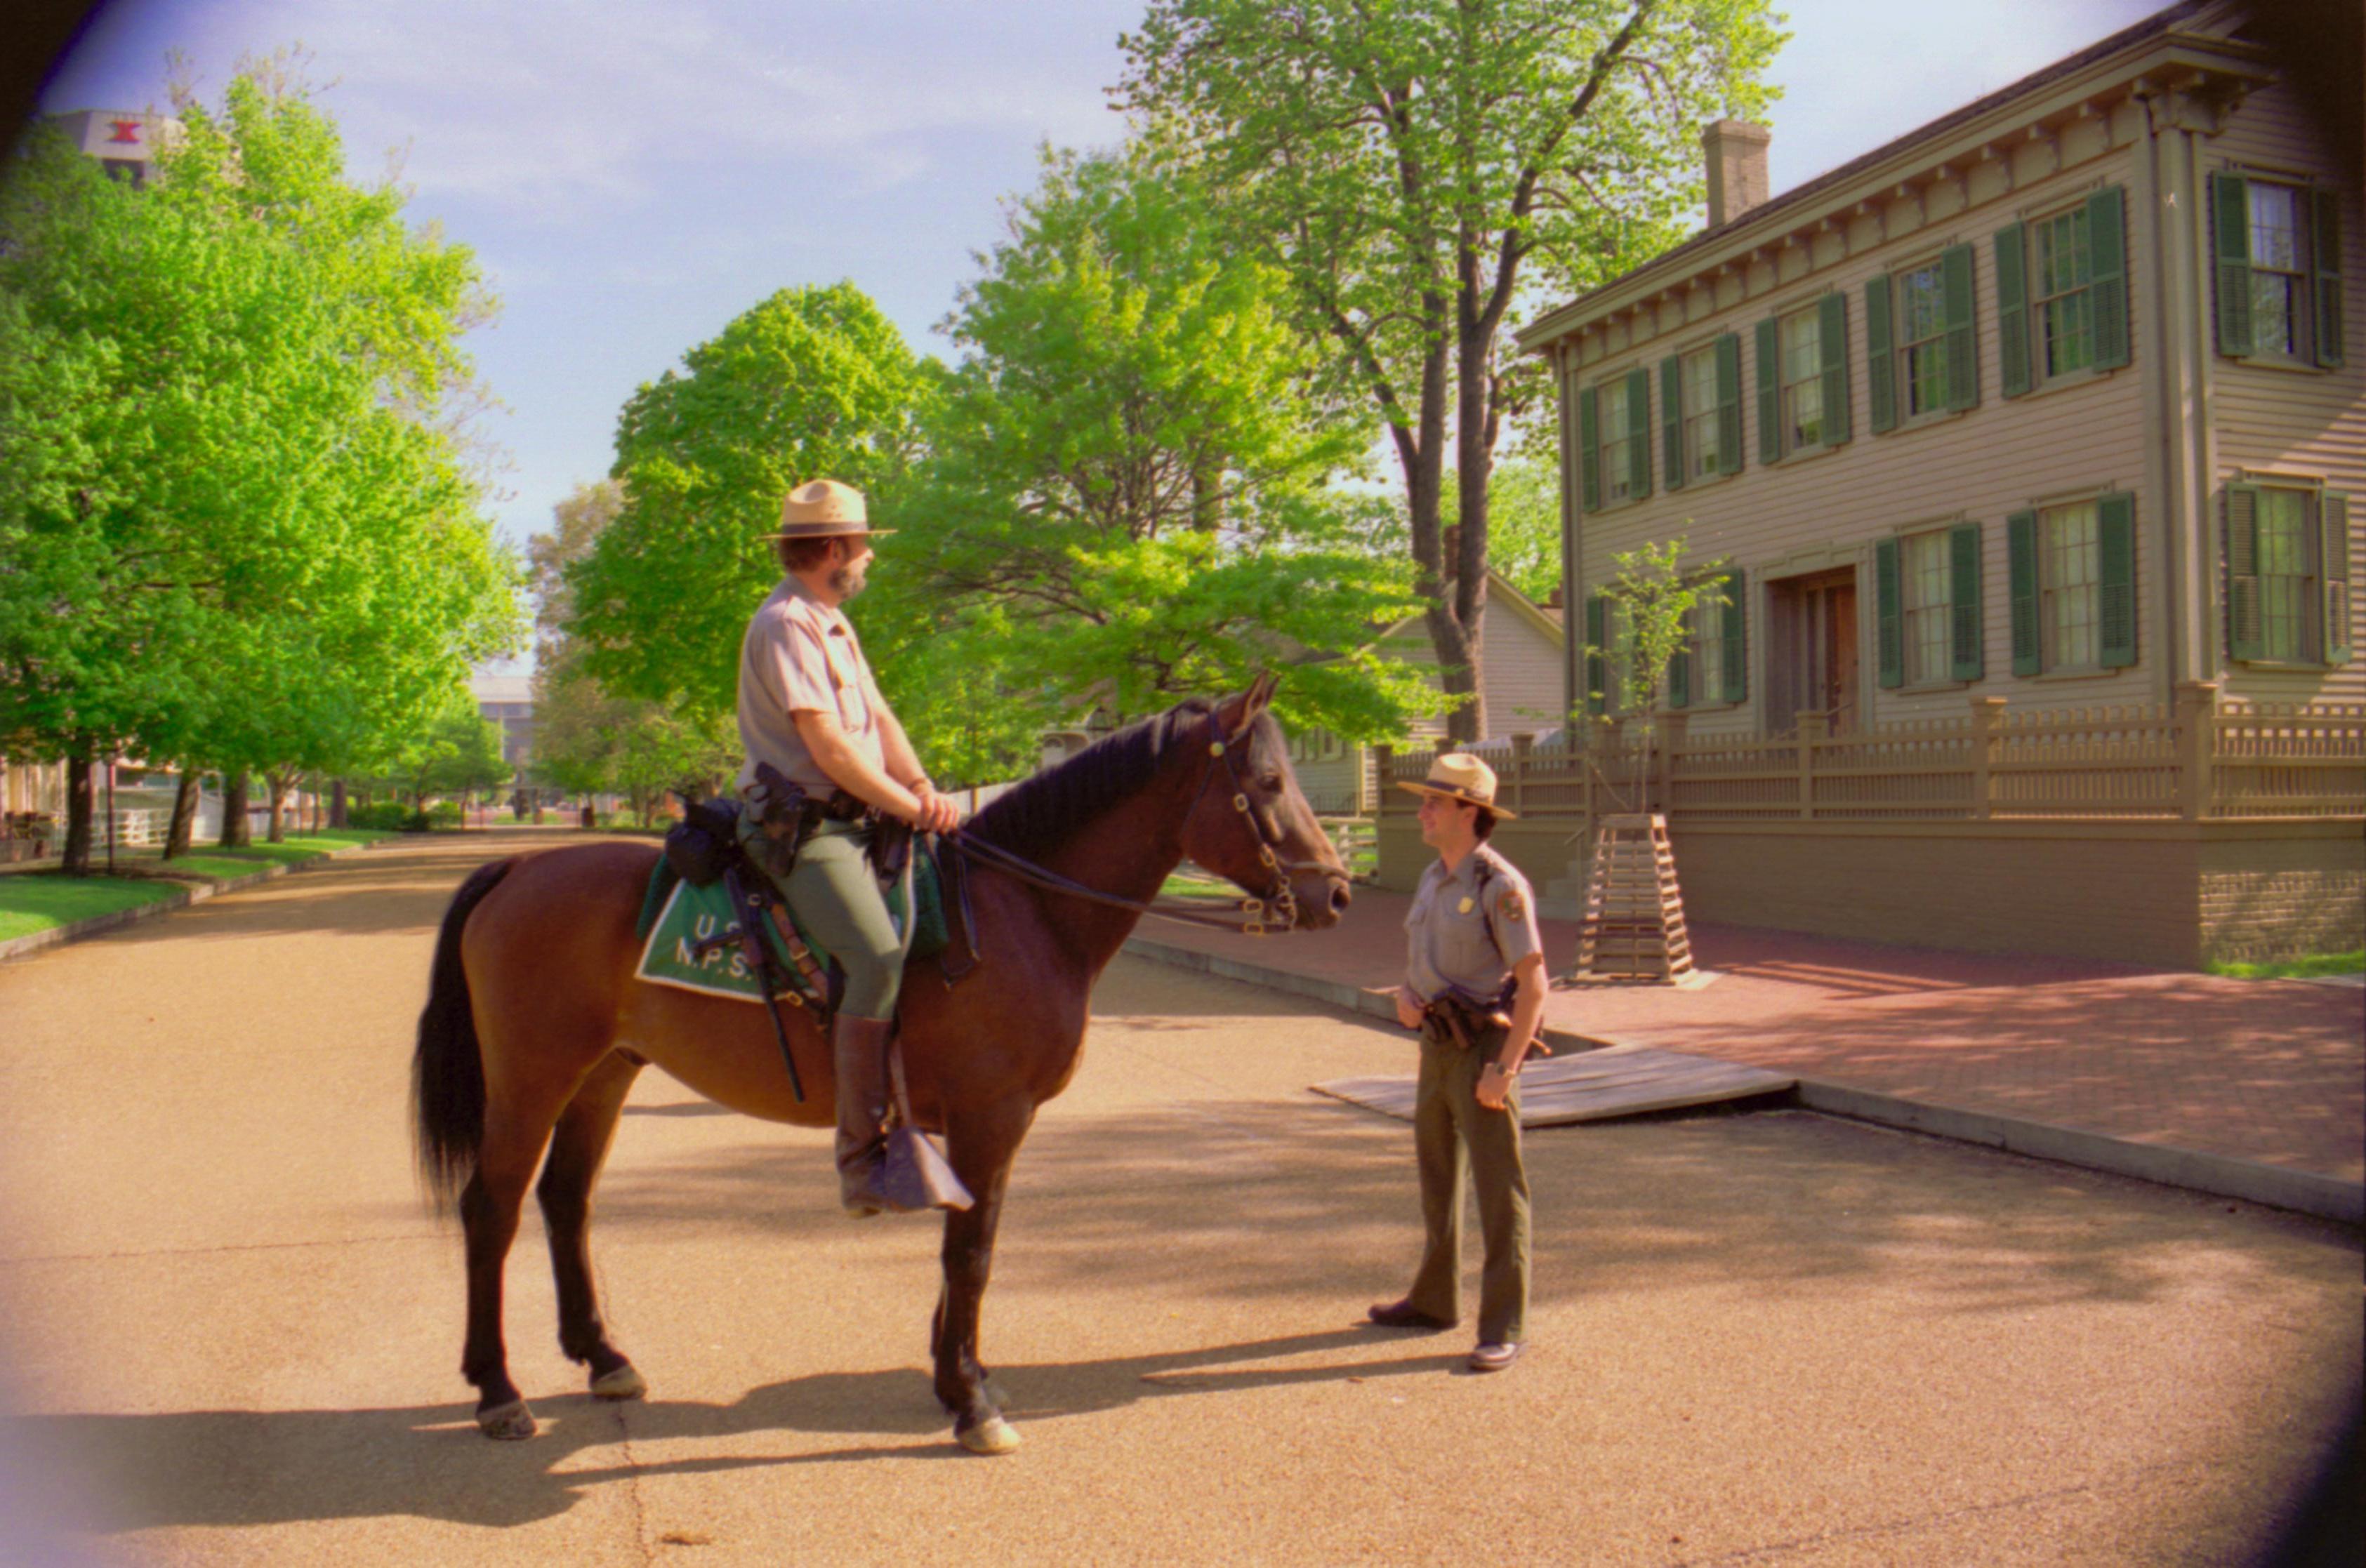
[[[1202,953],[1200,948],[1185,948],[1148,937],[1126,937],[1121,951],[1152,963],[1174,965],[1178,970],[1197,970],[1200,974],[1218,974],[1223,979],[1247,981],[1268,991],[1308,996],[1346,1012],[1384,1017],[1391,1024],[1396,1022],[1396,1007],[1389,1003],[1386,991],[1365,991],[1363,986],[1351,986],[1337,979],[1315,979],[1311,974],[1268,970],[1266,965],[1218,958],[1214,953]],[[1583,1034],[1569,1034],[1564,1029],[1545,1029],[1543,1036],[1554,1050],[1599,1050],[1602,1045],[1614,1043]],[[2267,1209],[2290,1209],[2295,1213],[2340,1220],[2345,1225],[2366,1225],[2366,1183],[2345,1183],[2338,1175],[2319,1175],[2316,1171],[2269,1166],[2236,1154],[2200,1154],[2196,1149],[2177,1149],[2158,1142],[2129,1142],[2106,1133],[2087,1133],[2082,1128],[2054,1126],[2049,1121],[2023,1121],[2021,1116],[1997,1116],[1990,1112],[1966,1112],[1952,1104],[1926,1104],[1921,1100],[1902,1100],[1898,1095],[1850,1088],[1845,1083],[1829,1083],[1822,1078],[1801,1078],[1789,1100],[1803,1109],[1822,1112],[1827,1116],[1872,1121],[1876,1126],[1926,1133],[1931,1138],[1952,1138],[1957,1142],[1976,1142],[1987,1149],[2004,1149],[2030,1159],[2051,1159],[2063,1166],[2084,1166],[2089,1171],[2108,1171],[2110,1175],[2132,1175],[2163,1187],[2184,1187],[2189,1192],[2234,1197]]]

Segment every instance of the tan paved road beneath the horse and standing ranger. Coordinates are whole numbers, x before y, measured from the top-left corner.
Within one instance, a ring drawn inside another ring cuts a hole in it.
[[[1460,1374],[1353,1327],[1410,1270],[1408,1128],[1304,1093],[1408,1045],[1121,960],[987,1303],[1020,1454],[930,1400],[932,1227],[835,1218],[821,1133],[658,1076],[596,1230],[653,1398],[580,1395],[530,1211],[544,1436],[492,1445],[402,1093],[494,844],[0,967],[31,1561],[2226,1561],[2357,1386],[2354,1232],[1812,1114],[1533,1135],[1533,1348]]]

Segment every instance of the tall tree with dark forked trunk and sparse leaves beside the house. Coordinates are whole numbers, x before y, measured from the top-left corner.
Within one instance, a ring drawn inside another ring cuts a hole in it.
[[[1389,423],[1457,740],[1486,733],[1495,440],[1543,390],[1505,322],[1682,237],[1699,125],[1767,102],[1779,43],[1765,0],[1152,0],[1124,38],[1126,104]]]

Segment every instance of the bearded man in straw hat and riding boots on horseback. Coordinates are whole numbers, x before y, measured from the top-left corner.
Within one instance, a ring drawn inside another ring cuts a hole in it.
[[[887,1152],[887,1043],[906,932],[887,913],[871,870],[883,818],[923,832],[956,825],[904,726],[880,698],[861,639],[842,605],[864,591],[873,530],[864,492],[835,480],[790,490],[781,532],[781,587],[741,641],[741,840],[797,920],[838,955],[845,996],[830,1029],[838,1074],[838,1197],[861,1218],[901,1211],[880,1187]]]

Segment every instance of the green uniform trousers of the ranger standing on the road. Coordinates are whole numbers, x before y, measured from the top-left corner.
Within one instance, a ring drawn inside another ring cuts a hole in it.
[[[1408,1301],[1415,1310],[1462,1317],[1462,1168],[1479,1187],[1479,1341],[1519,1343],[1528,1331],[1528,1171],[1519,1164],[1519,1078],[1505,1109],[1479,1104],[1479,1071],[1502,1050],[1488,1029],[1469,1050],[1422,1038],[1422,1078],[1413,1102],[1413,1152],[1422,1168],[1422,1268]]]

